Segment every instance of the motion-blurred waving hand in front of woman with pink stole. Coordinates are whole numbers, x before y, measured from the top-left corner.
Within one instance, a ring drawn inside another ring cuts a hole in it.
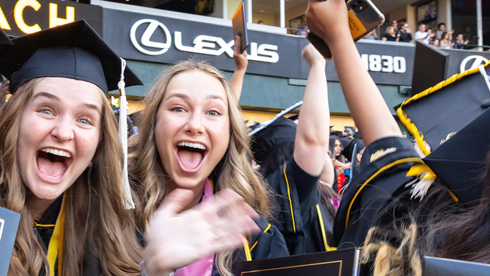
[[[150,221],[144,251],[149,276],[169,275],[212,253],[239,248],[244,235],[259,231],[257,213],[229,189],[184,211],[192,198],[191,191],[173,191]]]

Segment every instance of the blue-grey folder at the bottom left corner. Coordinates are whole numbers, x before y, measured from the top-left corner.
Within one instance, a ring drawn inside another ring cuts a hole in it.
[[[7,275],[21,214],[0,207],[0,276]]]

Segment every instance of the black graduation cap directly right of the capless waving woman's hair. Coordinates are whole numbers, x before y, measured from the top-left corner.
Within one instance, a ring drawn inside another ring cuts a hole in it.
[[[283,116],[252,136],[251,149],[255,161],[262,163],[278,146],[294,141],[296,124]]]

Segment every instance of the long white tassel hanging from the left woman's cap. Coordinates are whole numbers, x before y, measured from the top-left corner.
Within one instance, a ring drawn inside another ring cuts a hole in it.
[[[135,205],[129,188],[129,179],[127,173],[127,101],[124,87],[124,70],[126,69],[126,60],[121,58],[121,81],[118,83],[118,88],[121,93],[119,98],[119,139],[123,147],[124,165],[123,165],[123,187],[124,187],[124,207],[126,209],[134,209]]]

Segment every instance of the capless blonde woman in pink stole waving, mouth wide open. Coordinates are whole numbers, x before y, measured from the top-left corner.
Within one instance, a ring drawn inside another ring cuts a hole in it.
[[[180,62],[158,79],[145,101],[129,166],[143,198],[139,223],[147,231],[148,275],[228,276],[234,261],[288,255],[278,230],[254,214],[269,215],[268,195],[251,166],[247,128],[221,73],[202,62]],[[155,213],[169,193],[187,195],[171,215],[168,206]],[[217,204],[223,211],[214,216],[202,211],[223,198],[232,201]],[[259,234],[244,244],[240,233],[251,231]],[[238,247],[243,248],[234,251]]]

